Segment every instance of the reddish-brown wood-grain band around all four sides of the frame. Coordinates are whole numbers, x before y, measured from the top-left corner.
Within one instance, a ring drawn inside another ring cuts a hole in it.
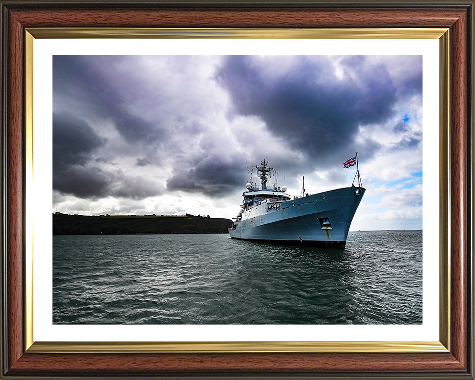
[[[337,376],[473,379],[467,336],[470,231],[468,61],[469,10],[66,8],[12,5],[8,10],[8,376]],[[473,8],[472,10],[473,11]],[[5,19],[3,19],[5,21]],[[23,29],[25,27],[449,27],[451,28],[451,353],[448,354],[32,354],[23,349]],[[473,25],[471,25],[473,27]],[[472,369],[473,370],[473,369]]]

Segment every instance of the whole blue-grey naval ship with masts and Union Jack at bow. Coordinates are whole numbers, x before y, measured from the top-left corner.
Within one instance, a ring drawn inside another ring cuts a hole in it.
[[[357,166],[358,155],[343,164],[344,168]],[[359,170],[358,187],[305,193],[302,184],[300,196],[291,197],[287,188],[276,183],[267,187],[270,172],[268,161],[261,161],[256,169],[260,186],[246,184],[242,193],[241,210],[229,229],[231,238],[266,241],[281,244],[302,244],[344,248],[351,221],[366,191],[361,185]],[[302,177],[302,182],[304,177]],[[257,181],[256,181],[257,182]]]

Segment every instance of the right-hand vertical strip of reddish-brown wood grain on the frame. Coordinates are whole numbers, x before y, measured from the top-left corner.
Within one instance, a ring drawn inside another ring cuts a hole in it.
[[[467,366],[467,212],[470,207],[467,194],[468,161],[467,143],[467,15],[452,27],[451,43],[451,252],[452,252],[452,303],[451,351],[459,362]]]

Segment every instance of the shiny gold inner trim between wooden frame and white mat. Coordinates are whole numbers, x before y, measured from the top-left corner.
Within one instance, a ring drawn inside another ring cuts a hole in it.
[[[33,339],[33,43],[38,39],[236,38],[236,39],[438,39],[440,79],[440,341],[172,341],[73,342]],[[25,30],[25,350],[45,353],[120,352],[449,352],[449,30],[447,28],[214,29],[214,28],[27,28]]]

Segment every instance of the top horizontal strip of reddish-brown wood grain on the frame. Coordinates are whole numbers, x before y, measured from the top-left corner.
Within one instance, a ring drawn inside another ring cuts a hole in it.
[[[40,9],[12,10],[12,17],[25,27],[201,27],[201,28],[351,28],[437,27],[452,25],[463,11],[428,10],[421,17],[415,9],[388,13],[381,9]]]

